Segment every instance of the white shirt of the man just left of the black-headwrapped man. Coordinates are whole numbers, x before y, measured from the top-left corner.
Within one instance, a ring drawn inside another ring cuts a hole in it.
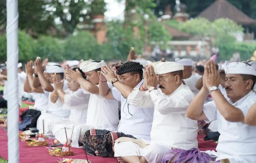
[[[110,88],[113,87],[111,83],[108,83],[108,86]],[[90,94],[85,90],[83,92],[84,94]],[[109,100],[96,94],[90,95],[86,120],[87,125],[116,131],[118,121],[118,102],[116,100]]]

